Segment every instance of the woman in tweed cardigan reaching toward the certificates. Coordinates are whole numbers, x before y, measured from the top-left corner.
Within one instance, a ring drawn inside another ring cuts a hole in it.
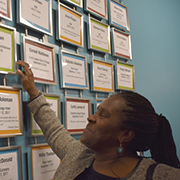
[[[154,180],[179,180],[180,162],[167,119],[155,113],[143,96],[125,92],[104,100],[88,117],[80,141],[65,130],[38,92],[29,65],[18,61],[22,85],[30,96],[28,106],[46,140],[62,160],[55,180],[145,180],[151,164],[159,163]],[[137,151],[150,149],[152,159]],[[162,164],[163,163],[163,164]]]

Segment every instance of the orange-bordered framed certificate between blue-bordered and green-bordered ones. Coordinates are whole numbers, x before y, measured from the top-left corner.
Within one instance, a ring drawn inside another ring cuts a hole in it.
[[[114,92],[114,65],[112,63],[93,59],[92,90]]]

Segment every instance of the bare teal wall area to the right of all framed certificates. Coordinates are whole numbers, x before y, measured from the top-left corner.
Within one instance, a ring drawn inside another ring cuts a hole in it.
[[[124,0],[132,35],[136,91],[169,120],[180,158],[180,1]]]

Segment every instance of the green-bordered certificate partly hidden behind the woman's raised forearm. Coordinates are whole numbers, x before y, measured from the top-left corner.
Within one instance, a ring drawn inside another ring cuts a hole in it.
[[[54,113],[56,114],[56,116],[59,118],[60,116],[60,112],[59,112],[59,98],[58,97],[53,97],[53,96],[48,96],[48,95],[44,95],[44,97],[46,98],[46,101],[49,103],[50,108],[54,111]],[[32,126],[32,134],[33,135],[42,135],[43,132],[41,130],[41,128],[39,127],[39,125],[36,123],[36,121],[34,120],[34,117],[32,116],[32,122],[31,122],[31,126]]]

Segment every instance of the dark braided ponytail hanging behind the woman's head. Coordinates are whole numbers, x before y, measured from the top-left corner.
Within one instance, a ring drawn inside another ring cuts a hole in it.
[[[158,133],[155,141],[150,146],[152,159],[157,163],[164,163],[175,168],[180,168],[170,124],[162,115],[158,116],[158,122]]]

